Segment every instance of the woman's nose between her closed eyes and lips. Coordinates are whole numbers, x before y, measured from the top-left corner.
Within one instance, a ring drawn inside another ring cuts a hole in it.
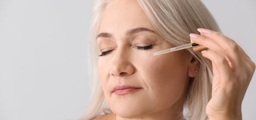
[[[116,51],[112,58],[109,74],[111,76],[127,76],[134,73],[134,67],[130,61],[129,55],[124,55],[124,52]]]

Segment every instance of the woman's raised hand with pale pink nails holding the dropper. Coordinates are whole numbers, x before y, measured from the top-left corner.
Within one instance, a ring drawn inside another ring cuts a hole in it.
[[[212,61],[212,98],[206,106],[210,120],[242,120],[242,100],[255,71],[255,63],[232,39],[208,29],[191,40],[208,50],[202,55]]]

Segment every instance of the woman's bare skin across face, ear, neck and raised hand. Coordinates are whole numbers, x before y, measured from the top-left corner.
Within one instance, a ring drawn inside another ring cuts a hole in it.
[[[129,30],[132,32],[127,35]],[[113,113],[96,119],[179,120],[189,78],[196,76],[195,69],[198,67],[192,56],[182,50],[153,56],[153,52],[173,46],[156,32],[136,0],[111,1],[103,13],[98,33],[99,55],[112,50],[99,57],[98,72],[106,101]],[[207,105],[208,117],[211,120],[232,119],[230,115],[240,117],[242,99],[255,64],[240,47],[233,52],[233,46],[229,46],[232,41],[222,34],[201,32],[192,40],[209,48],[203,55],[213,62],[213,94]],[[219,43],[220,40],[224,42]],[[148,45],[152,48],[138,49]],[[123,84],[142,89],[126,95],[111,92],[115,85]],[[237,95],[237,92],[241,94]],[[237,101],[232,101],[232,97],[236,97]]]

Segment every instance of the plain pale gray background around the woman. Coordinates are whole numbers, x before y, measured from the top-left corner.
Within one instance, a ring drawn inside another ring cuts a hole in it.
[[[224,35],[255,57],[255,0],[203,0]],[[0,120],[77,119],[89,100],[89,0],[0,0]],[[256,119],[256,78],[242,103]]]

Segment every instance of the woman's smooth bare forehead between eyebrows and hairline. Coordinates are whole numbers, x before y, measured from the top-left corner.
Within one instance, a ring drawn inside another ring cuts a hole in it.
[[[99,32],[118,33],[136,27],[155,31],[137,0],[114,0],[103,13]]]

